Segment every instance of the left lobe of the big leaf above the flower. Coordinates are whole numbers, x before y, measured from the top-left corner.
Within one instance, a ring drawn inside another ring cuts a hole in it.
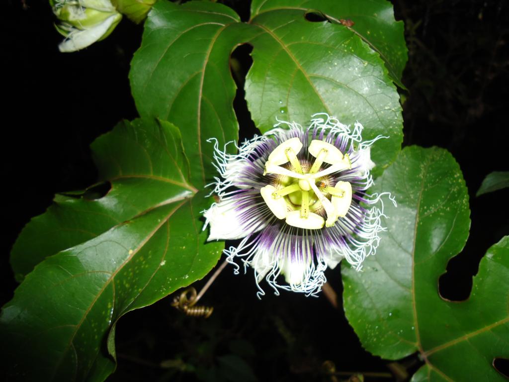
[[[222,147],[238,139],[229,59],[251,29],[221,4],[160,1],[134,54],[129,77],[138,112],[179,126],[196,186],[216,173],[207,140],[216,138]]]

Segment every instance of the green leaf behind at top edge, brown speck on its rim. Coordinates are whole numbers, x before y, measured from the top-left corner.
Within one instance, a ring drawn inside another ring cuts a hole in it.
[[[344,25],[380,54],[392,80],[401,88],[403,69],[408,60],[403,21],[394,20],[392,4],[385,0],[253,0],[251,17],[275,10],[318,10],[333,23]],[[343,21],[345,20],[345,21]]]

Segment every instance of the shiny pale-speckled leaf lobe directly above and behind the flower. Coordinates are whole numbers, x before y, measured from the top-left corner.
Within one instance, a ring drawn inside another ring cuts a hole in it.
[[[390,137],[372,149],[379,174],[401,149],[398,92],[378,54],[353,31],[309,22],[304,13],[272,10],[250,21],[259,29],[250,41],[253,64],[246,78],[251,117],[262,132],[276,118],[305,125],[320,112],[345,124],[359,121],[364,140]]]

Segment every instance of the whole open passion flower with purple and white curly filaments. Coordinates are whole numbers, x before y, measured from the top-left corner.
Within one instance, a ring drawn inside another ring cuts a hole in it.
[[[278,288],[315,295],[326,282],[324,271],[345,258],[356,269],[374,255],[380,238],[382,195],[373,185],[371,146],[362,142],[362,125],[353,129],[327,114],[315,114],[303,129],[281,122],[261,137],[227,154],[215,142],[213,193],[204,211],[208,240],[241,239],[225,249],[227,260],[254,268],[256,283],[265,278]],[[286,128],[283,128],[286,126]],[[390,195],[389,195],[390,198]],[[395,204],[394,200],[391,199]],[[287,284],[279,284],[284,276]]]

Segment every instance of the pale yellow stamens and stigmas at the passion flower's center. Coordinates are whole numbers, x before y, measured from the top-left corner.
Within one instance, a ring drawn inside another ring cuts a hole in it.
[[[266,185],[260,193],[278,219],[304,229],[332,227],[339,217],[345,217],[352,202],[349,182],[329,185],[328,175],[352,168],[348,154],[330,143],[313,140],[308,152],[315,160],[312,166],[301,163],[297,154],[302,149],[298,138],[277,146],[265,162],[265,173],[280,175],[276,185]],[[281,167],[290,163],[287,167]],[[321,170],[323,163],[330,165]],[[315,212],[324,210],[327,220]]]

